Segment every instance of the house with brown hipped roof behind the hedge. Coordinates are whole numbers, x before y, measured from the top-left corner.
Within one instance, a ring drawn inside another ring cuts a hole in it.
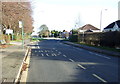
[[[79,32],[100,32],[100,29],[92,26],[91,24],[86,24],[78,29]]]

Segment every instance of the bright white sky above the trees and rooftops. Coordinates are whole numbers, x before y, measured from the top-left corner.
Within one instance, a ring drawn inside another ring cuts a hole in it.
[[[43,24],[49,30],[57,31],[70,31],[85,24],[100,28],[101,16],[103,29],[118,20],[118,2],[119,0],[33,0],[34,31],[39,31]]]

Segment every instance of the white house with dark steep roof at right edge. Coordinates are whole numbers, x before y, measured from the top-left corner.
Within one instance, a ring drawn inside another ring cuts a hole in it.
[[[117,20],[104,28],[103,32],[120,31],[120,20]]]

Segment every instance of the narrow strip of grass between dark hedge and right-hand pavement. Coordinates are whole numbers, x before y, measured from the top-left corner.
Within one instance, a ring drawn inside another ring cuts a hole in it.
[[[85,43],[79,43],[79,42],[73,42],[73,43],[86,45],[86,46],[90,46],[90,47],[95,47],[95,48],[100,48],[100,49],[109,50],[109,51],[120,52],[120,49],[115,49],[115,48],[110,48],[110,47],[105,47],[105,46],[94,46],[94,45],[85,44]]]

